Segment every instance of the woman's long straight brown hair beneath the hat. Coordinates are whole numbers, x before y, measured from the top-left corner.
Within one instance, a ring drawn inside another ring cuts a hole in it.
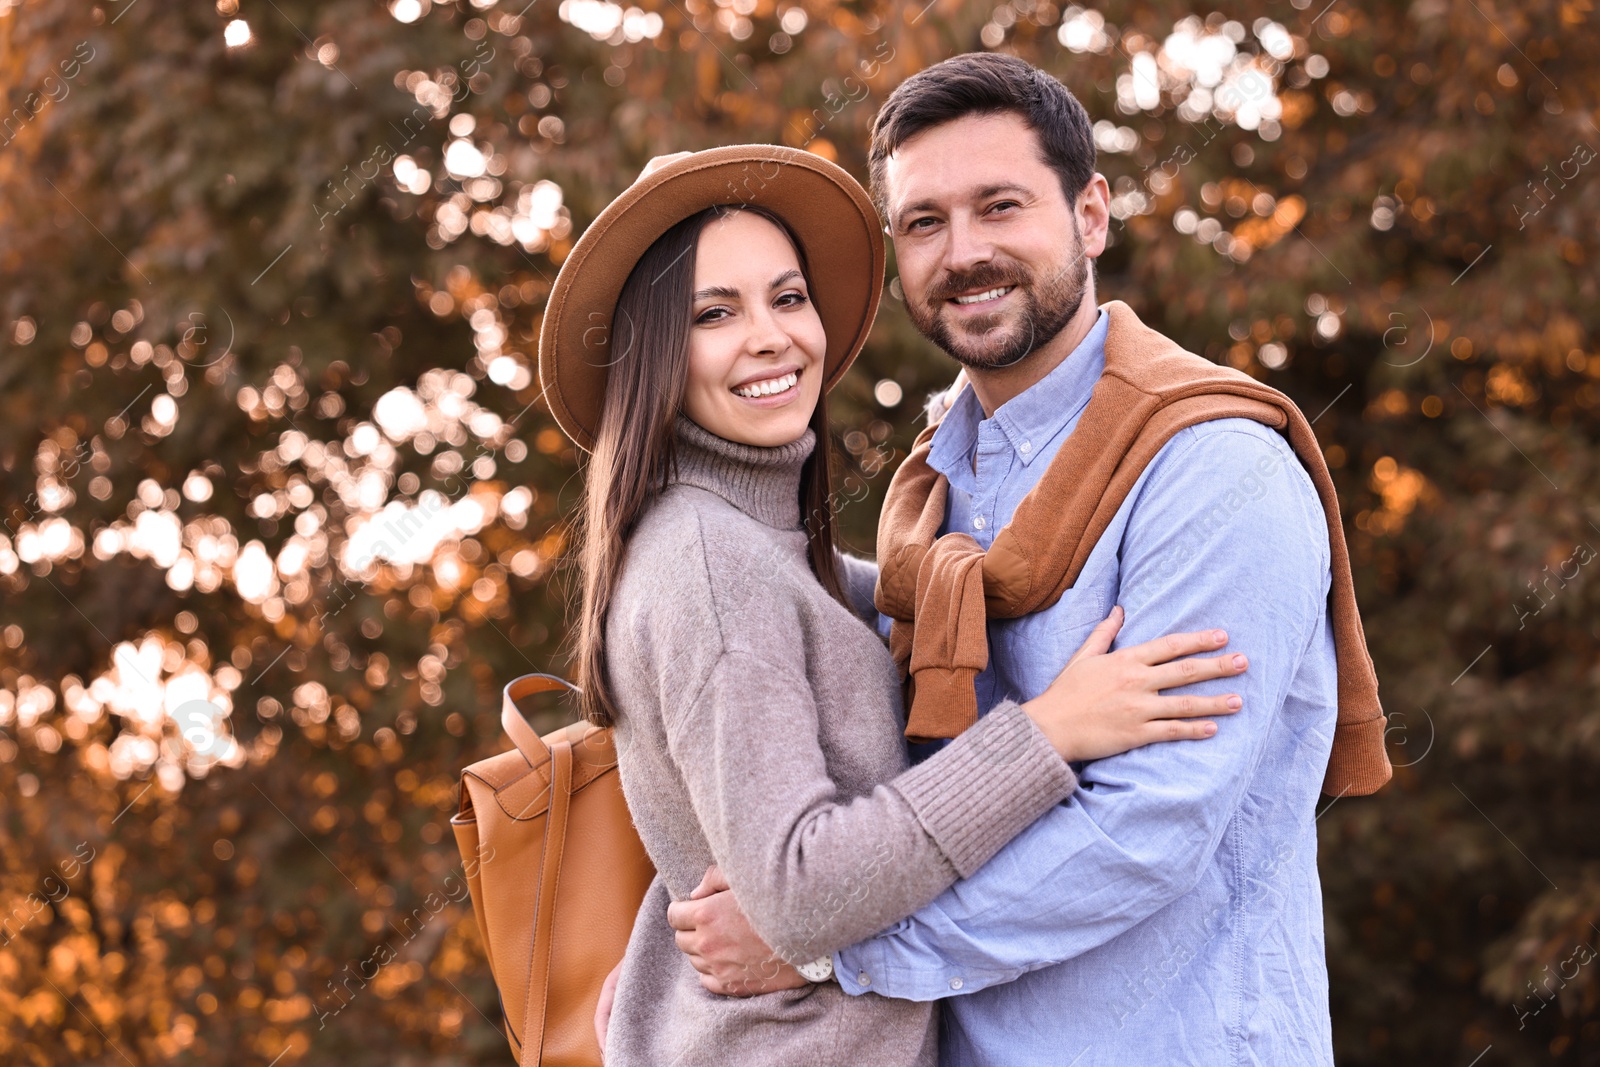
[[[597,726],[616,721],[616,702],[606,685],[605,621],[622,569],[622,552],[638,517],[666,488],[674,462],[674,419],[688,384],[694,250],[706,226],[728,211],[749,211],[778,226],[794,245],[806,290],[811,288],[805,250],[794,232],[771,211],[752,205],[707,208],[683,219],[640,256],[622,286],[611,322],[611,373],[586,470],[574,547],[582,585],[578,622],[570,632],[576,681],[582,689],[578,704],[584,718]],[[800,470],[800,512],[811,571],[830,597],[848,606],[834,555],[827,390],[818,395],[811,429],[816,448]]]

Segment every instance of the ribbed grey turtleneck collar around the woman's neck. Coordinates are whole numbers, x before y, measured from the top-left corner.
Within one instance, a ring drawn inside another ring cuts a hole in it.
[[[717,437],[678,411],[677,472],[667,485],[693,485],[715,493],[750,518],[778,530],[800,528],[800,469],[816,448],[816,430],[787,445],[742,445]]]

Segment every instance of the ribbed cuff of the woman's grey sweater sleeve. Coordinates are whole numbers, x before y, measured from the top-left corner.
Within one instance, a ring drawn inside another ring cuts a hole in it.
[[[962,878],[1072,795],[1077,774],[1016,701],[1002,701],[893,782]]]

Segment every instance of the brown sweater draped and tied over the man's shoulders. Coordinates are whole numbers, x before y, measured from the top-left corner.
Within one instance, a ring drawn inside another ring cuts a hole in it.
[[[1376,792],[1392,774],[1387,720],[1355,605],[1339,501],[1310,424],[1277,389],[1184,352],[1122,301],[1104,309],[1106,371],[1045,477],[987,552],[965,533],[938,537],[949,483],[928,466],[933,426],[917,435],[890,483],[878,520],[875,600],[894,621],[890,648],[910,707],[906,736],[955,737],[978,721],[973,686],[989,664],[986,621],[1056,603],[1173,435],[1213,419],[1254,419],[1288,437],[1328,520],[1339,717],[1322,789],[1331,797]]]

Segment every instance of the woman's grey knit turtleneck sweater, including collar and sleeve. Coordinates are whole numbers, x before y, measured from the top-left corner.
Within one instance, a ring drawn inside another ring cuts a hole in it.
[[[851,608],[806,561],[800,470],[677,418],[677,472],[629,537],[606,619],[622,789],[659,872],[629,941],[608,1067],[934,1064],[934,1005],[835,982],[701,987],[667,925],[718,864],[790,963],[854,944],[973,873],[1075,787],[1003,702],[907,769],[894,662],[866,622],[875,569],[842,557]]]

